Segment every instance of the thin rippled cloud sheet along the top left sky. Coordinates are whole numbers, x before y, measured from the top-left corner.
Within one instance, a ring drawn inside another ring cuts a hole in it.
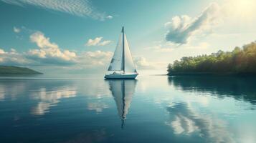
[[[15,4],[17,6],[38,6],[43,9],[50,9],[54,11],[61,11],[67,14],[76,16],[86,16],[93,19],[109,19],[105,13],[99,12],[95,9],[88,0],[1,0],[8,4]]]

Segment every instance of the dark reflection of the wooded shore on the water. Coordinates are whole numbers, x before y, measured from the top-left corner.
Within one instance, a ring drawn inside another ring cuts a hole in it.
[[[174,76],[169,84],[184,92],[210,93],[256,104],[256,77]]]

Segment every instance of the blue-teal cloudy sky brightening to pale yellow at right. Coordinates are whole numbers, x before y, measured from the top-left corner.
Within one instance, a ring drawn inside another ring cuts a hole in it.
[[[256,40],[255,0],[0,0],[0,65],[103,74],[122,26],[138,72]]]

